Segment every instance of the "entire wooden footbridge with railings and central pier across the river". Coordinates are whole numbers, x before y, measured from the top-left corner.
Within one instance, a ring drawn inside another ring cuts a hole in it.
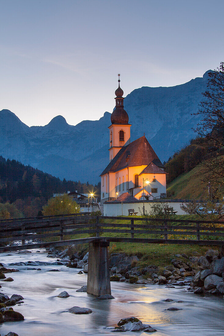
[[[0,252],[88,243],[87,292],[99,296],[111,294],[110,242],[209,245],[224,249],[224,222],[90,215],[79,213],[0,220],[0,246],[22,241],[22,245],[2,246]],[[76,235],[77,239],[69,239],[71,235]],[[52,237],[60,240],[52,241]],[[37,239],[51,241],[25,244],[26,240]]]

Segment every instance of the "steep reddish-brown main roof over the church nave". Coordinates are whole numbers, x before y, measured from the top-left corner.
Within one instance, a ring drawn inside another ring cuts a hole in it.
[[[143,135],[141,138],[123,146],[101,175],[127,167],[148,166],[151,162],[157,167],[163,167],[145,135]]]

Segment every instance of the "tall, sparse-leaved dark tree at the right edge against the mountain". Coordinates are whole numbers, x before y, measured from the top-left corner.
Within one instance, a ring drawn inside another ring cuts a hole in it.
[[[201,116],[195,131],[205,138],[204,146],[207,156],[201,162],[203,167],[202,180],[220,184],[224,183],[224,62],[220,67],[208,74],[208,90],[203,93],[205,98],[200,102]]]

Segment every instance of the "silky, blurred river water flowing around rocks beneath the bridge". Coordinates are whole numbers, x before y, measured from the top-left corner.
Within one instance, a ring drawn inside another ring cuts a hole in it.
[[[224,335],[224,300],[217,297],[202,297],[189,293],[186,287],[131,285],[111,282],[113,300],[96,300],[93,295],[76,292],[86,285],[87,275],[79,275],[80,269],[68,268],[47,258],[45,250],[32,254],[11,252],[0,254],[0,262],[20,272],[8,276],[13,282],[0,282],[1,292],[11,296],[20,294],[24,303],[13,306],[21,312],[25,321],[7,322],[0,325],[0,334],[9,331],[19,336],[70,336],[70,335],[124,335],[112,332],[117,322],[124,317],[135,316],[143,323],[157,329],[156,336]],[[35,270],[32,268],[41,268]],[[49,272],[59,269],[60,272]],[[7,275],[6,275],[7,276]],[[66,290],[70,297],[57,295]],[[174,302],[164,302],[171,298]],[[182,300],[182,303],[177,303]],[[66,310],[87,307],[91,314],[75,315]],[[178,311],[165,310],[182,308]],[[149,335],[144,332],[126,332],[125,335]]]

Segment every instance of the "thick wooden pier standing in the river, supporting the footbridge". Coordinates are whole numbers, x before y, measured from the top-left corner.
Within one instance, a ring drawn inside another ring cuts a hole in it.
[[[109,242],[89,243],[87,293],[96,296],[110,294]]]

